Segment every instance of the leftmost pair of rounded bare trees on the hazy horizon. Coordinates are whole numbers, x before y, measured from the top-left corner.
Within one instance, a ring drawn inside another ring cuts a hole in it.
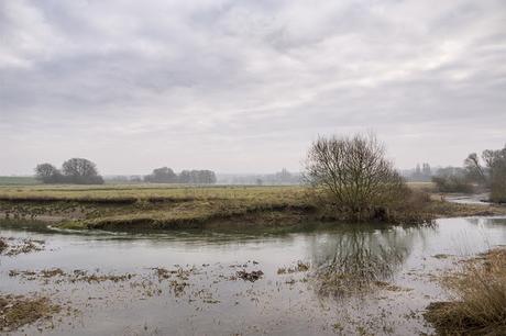
[[[97,166],[88,159],[72,158],[57,169],[51,164],[35,167],[35,178],[43,183],[103,184]]]

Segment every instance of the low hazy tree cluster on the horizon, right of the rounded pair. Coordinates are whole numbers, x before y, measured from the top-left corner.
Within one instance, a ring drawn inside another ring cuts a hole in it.
[[[216,180],[216,173],[211,170],[183,170],[177,175],[168,167],[154,169],[144,177],[148,183],[213,184]]]

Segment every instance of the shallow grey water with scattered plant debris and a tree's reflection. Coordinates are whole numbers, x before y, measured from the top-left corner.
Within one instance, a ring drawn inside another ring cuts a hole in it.
[[[506,244],[506,219],[435,227],[73,233],[3,222],[0,295],[59,306],[6,334],[413,335],[447,299],[437,276]],[[25,248],[33,244],[36,248]]]

